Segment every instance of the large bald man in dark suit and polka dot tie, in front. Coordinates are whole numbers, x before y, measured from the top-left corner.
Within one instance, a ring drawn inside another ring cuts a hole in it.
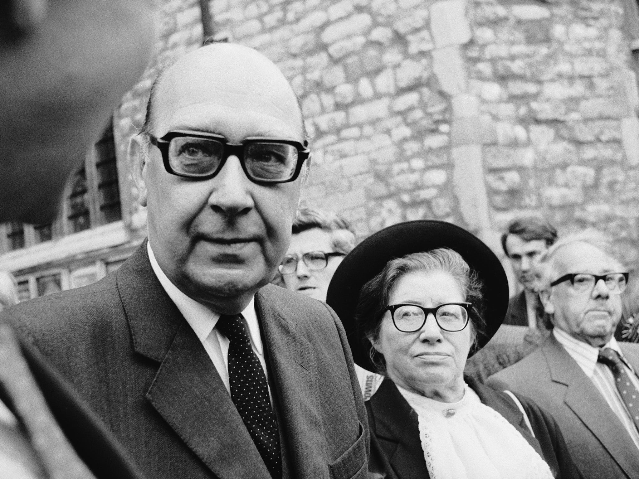
[[[365,478],[341,322],[268,284],[309,168],[284,75],[240,45],[194,50],[156,80],[129,151],[148,241],[10,319],[149,478]]]

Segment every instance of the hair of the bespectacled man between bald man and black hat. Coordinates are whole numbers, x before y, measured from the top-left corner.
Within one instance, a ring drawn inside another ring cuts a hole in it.
[[[332,247],[336,252],[349,254],[355,248],[355,234],[343,217],[307,206],[298,209],[293,221],[293,234],[315,228],[330,233]]]

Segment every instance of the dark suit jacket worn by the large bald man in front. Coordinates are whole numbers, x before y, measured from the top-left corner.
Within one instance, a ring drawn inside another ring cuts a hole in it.
[[[255,298],[284,478],[365,478],[369,432],[341,322],[266,285]],[[99,282],[5,312],[73,383],[149,478],[270,478],[146,241]]]

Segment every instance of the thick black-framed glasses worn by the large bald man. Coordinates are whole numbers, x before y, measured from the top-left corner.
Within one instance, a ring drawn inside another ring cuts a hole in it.
[[[295,181],[309,157],[306,144],[298,141],[251,137],[229,143],[215,133],[178,130],[162,138],[148,135],[162,153],[167,172],[185,178],[209,179],[224,167],[226,159],[240,158],[244,174],[259,184]]]

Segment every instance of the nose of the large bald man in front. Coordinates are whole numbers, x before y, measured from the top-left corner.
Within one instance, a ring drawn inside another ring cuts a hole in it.
[[[252,209],[255,204],[250,195],[251,181],[244,174],[240,159],[231,155],[222,170],[212,178],[213,190],[208,204],[227,217],[234,217]]]

